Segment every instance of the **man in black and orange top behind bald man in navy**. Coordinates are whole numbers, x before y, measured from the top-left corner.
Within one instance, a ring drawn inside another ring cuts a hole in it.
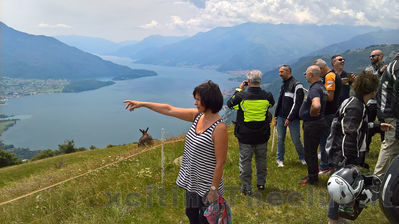
[[[328,163],[328,155],[326,152],[326,141],[328,135],[330,134],[330,126],[334,119],[335,113],[339,108],[339,96],[341,94],[342,81],[341,77],[335,74],[327,65],[327,63],[323,59],[317,59],[313,65],[317,65],[321,71],[321,80],[324,84],[324,87],[328,93],[328,99],[326,103],[325,110],[325,119],[327,128],[323,131],[320,140],[320,154],[321,154],[321,162],[319,165],[319,174],[327,174],[330,173],[334,168],[330,166]]]

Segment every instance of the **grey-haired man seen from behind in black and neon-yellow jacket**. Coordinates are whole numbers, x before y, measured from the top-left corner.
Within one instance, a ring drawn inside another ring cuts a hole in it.
[[[227,101],[227,106],[237,110],[234,135],[238,138],[239,144],[241,192],[244,195],[251,195],[253,154],[255,154],[258,190],[265,189],[266,152],[271,121],[269,108],[274,105],[274,98],[270,92],[260,88],[262,73],[259,70],[249,71],[247,79],[248,81],[243,81],[240,88],[237,88],[233,96]],[[244,91],[247,86],[248,90]]]

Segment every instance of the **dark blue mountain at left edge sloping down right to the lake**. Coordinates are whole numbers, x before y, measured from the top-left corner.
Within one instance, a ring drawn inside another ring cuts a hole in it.
[[[0,75],[12,78],[87,79],[131,76],[134,70],[70,47],[59,40],[30,35],[0,22]]]

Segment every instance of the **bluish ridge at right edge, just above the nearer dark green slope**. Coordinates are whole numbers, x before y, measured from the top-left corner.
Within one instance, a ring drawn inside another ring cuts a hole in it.
[[[332,44],[320,50],[314,51],[309,56],[323,54],[338,54],[346,50],[365,48],[377,44],[399,44],[399,30],[379,30],[355,36],[347,41]]]

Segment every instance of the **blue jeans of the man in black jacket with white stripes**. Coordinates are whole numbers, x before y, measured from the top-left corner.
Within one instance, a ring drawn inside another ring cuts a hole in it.
[[[287,127],[284,126],[285,118],[277,117],[277,159],[284,161],[285,154],[285,134],[287,133]],[[290,135],[292,143],[294,143],[298,158],[304,159],[303,145],[301,142],[301,122],[300,120],[293,120],[289,124]]]

